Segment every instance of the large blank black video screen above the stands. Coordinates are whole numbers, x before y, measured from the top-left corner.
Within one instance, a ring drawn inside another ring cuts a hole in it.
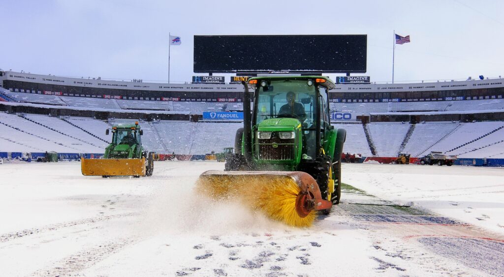
[[[194,36],[195,73],[365,73],[367,35]]]

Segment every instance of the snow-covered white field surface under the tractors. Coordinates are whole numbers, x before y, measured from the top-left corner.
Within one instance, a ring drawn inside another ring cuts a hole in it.
[[[101,178],[77,162],[0,165],[0,275],[504,274],[503,169],[344,164],[358,189],[296,229],[198,195],[199,174],[223,168]]]

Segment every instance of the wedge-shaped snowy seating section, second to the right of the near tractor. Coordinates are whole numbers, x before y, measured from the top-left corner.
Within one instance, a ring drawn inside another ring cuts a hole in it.
[[[376,155],[379,157],[397,157],[410,124],[402,122],[380,122],[367,124]]]

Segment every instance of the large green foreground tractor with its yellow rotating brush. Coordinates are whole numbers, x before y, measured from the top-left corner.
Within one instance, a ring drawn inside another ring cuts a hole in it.
[[[204,172],[198,187],[287,225],[307,227],[341,198],[346,130],[331,125],[329,90],[321,76],[264,76],[242,82],[243,128],[224,171]],[[250,111],[248,86],[254,89]]]

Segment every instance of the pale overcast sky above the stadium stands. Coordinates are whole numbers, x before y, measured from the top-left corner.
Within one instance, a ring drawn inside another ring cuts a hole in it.
[[[504,1],[0,0],[0,68],[191,82],[194,35],[366,34],[371,82],[504,76]],[[272,46],[273,48],[273,46]],[[217,74],[216,74],[217,75]],[[229,75],[225,75],[229,76]],[[329,75],[334,79],[336,74]]]

